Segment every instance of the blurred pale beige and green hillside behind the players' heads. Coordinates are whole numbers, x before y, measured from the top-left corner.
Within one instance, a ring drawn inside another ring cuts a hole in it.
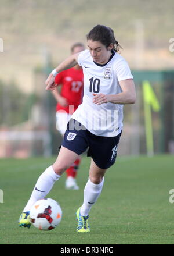
[[[1,0],[0,80],[32,91],[35,67],[45,65],[48,54],[57,65],[96,24],[114,29],[132,69],[172,69],[173,10],[172,0]]]

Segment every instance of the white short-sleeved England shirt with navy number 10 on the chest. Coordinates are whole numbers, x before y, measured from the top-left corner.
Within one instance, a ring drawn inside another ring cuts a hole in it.
[[[96,105],[92,102],[93,93],[121,93],[119,81],[133,79],[125,59],[114,51],[112,53],[104,65],[94,62],[89,50],[82,51],[78,56],[78,64],[84,72],[84,97],[71,118],[97,136],[114,137],[121,132],[123,105],[110,102]]]

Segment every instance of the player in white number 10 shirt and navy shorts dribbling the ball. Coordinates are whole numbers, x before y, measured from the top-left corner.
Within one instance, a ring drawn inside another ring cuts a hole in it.
[[[54,90],[56,74],[78,63],[84,72],[84,97],[71,116],[55,163],[42,173],[32,191],[19,219],[20,226],[30,227],[32,205],[49,193],[55,181],[88,148],[89,179],[84,189],[84,202],[76,215],[77,232],[90,231],[89,211],[102,192],[106,170],[117,156],[123,105],[134,104],[136,92],[128,63],[117,53],[120,46],[110,27],[93,27],[87,35],[87,45],[88,50],[68,57],[46,80],[46,90]]]

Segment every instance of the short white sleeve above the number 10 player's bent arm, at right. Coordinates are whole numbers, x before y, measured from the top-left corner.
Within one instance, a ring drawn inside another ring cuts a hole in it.
[[[121,61],[117,63],[116,72],[117,72],[118,81],[133,79],[131,70],[129,68],[128,63],[125,61],[125,59],[121,59]]]

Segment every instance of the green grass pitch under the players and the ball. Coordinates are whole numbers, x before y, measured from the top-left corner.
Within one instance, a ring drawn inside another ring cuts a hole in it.
[[[173,156],[154,158],[118,157],[106,173],[99,200],[90,211],[91,232],[77,233],[75,211],[82,204],[90,159],[83,158],[78,174],[79,191],[64,189],[65,175],[55,183],[48,197],[63,210],[56,229],[24,229],[17,219],[34,184],[55,158],[1,159],[0,244],[173,244],[173,204],[169,190],[174,189]]]

